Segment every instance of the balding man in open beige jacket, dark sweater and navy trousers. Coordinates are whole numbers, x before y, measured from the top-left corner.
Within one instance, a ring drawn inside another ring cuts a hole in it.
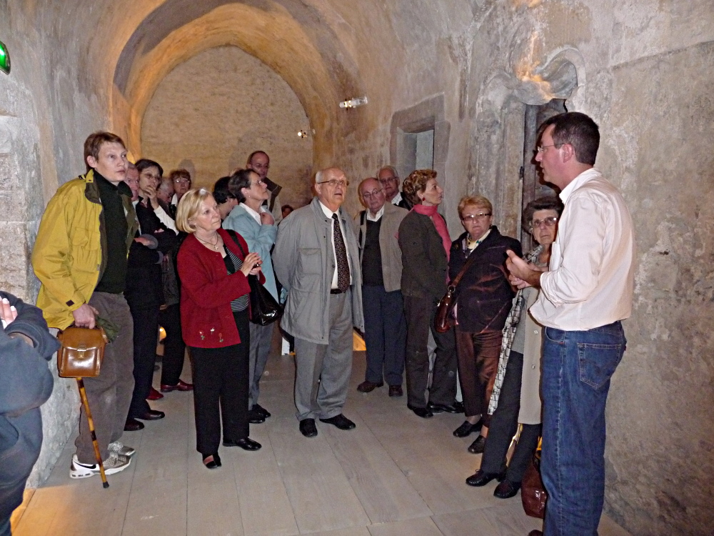
[[[386,379],[390,397],[401,397],[406,350],[406,320],[401,295],[401,249],[396,235],[408,211],[386,203],[377,179],[364,179],[358,187],[366,207],[355,217],[355,232],[362,269],[362,308],[367,347],[367,369],[359,392],[382,387]]]

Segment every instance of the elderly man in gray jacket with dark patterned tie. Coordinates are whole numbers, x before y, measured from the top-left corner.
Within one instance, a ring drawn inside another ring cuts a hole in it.
[[[307,207],[281,222],[273,267],[288,290],[281,327],[295,337],[295,406],[300,432],[317,435],[316,417],[340,430],[352,370],[352,327],[364,329],[357,241],[340,207],[349,185],[341,169],[317,172]]]

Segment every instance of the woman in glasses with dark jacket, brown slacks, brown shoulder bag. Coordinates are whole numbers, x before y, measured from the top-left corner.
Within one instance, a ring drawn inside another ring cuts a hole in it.
[[[449,277],[456,278],[469,259],[473,262],[456,287],[456,354],[466,421],[453,435],[466,437],[481,430],[468,447],[468,452],[478,454],[488,435],[486,410],[496,379],[501,331],[516,294],[508,282],[506,250],[520,257],[521,242],[498,232],[486,197],[463,197],[458,216],[466,232],[451,244]]]

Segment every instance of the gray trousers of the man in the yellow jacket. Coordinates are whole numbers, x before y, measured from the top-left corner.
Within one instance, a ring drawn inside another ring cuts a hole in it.
[[[124,294],[94,292],[89,304],[99,311],[100,317],[119,326],[119,335],[104,349],[99,376],[84,378],[99,452],[101,459],[106,460],[109,456],[107,446],[119,440],[124,433],[131,394],[134,392],[134,322]],[[79,415],[79,436],[74,445],[81,463],[96,462],[84,407]]]

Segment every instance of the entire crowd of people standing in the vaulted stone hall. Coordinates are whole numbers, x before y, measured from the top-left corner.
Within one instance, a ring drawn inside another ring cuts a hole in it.
[[[633,292],[630,216],[593,167],[598,144],[598,126],[584,114],[541,126],[535,159],[560,196],[524,210],[523,227],[537,245],[523,256],[481,195],[455,207],[463,233],[452,241],[432,169],[415,170],[400,190],[396,169],[382,167],[358,184],[364,209],[352,217],[342,207],[350,182],[336,167],[318,171],[315,197],[293,210],[278,201],[265,152],[250,154],[245,169],[209,191],[192,189],[185,169],[164,177],[157,162],[129,163],[114,134],[91,134],[87,172],[49,202],[32,262],[41,282],[39,332],[47,324],[118,329],[101,374],[85,379],[106,474],[131,463],[123,432],[164,417],[149,406],[162,392],[193,390],[196,450],[208,469],[221,467],[220,445],[261,448],[249,432],[271,417],[258,400],[275,330],[250,320],[251,283],[262,284],[284,304],[279,324],[294,344],[302,435],[318,435],[316,420],[356,427],[343,407],[357,328],[366,342],[359,392],[386,382],[389,397],[402,397],[406,379],[416,416],[463,414],[453,435],[477,434],[468,451],[483,453],[466,484],[497,479],[494,495],[504,499],[518,493],[542,435],[545,534],[596,534],[605,400]],[[438,302],[450,284],[456,305],[448,329],[438,330]],[[13,320],[5,309],[4,327]],[[159,326],[166,339],[157,390]],[[7,343],[28,344],[44,362],[56,344],[29,337]],[[186,347],[191,382],[181,379]],[[47,396],[37,392],[28,408]],[[27,437],[36,443],[36,430]],[[70,476],[98,473],[82,410]]]

